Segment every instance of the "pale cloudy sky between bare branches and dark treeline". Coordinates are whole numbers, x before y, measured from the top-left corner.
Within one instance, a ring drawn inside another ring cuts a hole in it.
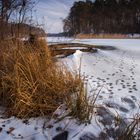
[[[36,6],[36,19],[45,24],[48,33],[62,32],[62,20],[68,16],[74,1],[78,0],[40,0]]]

